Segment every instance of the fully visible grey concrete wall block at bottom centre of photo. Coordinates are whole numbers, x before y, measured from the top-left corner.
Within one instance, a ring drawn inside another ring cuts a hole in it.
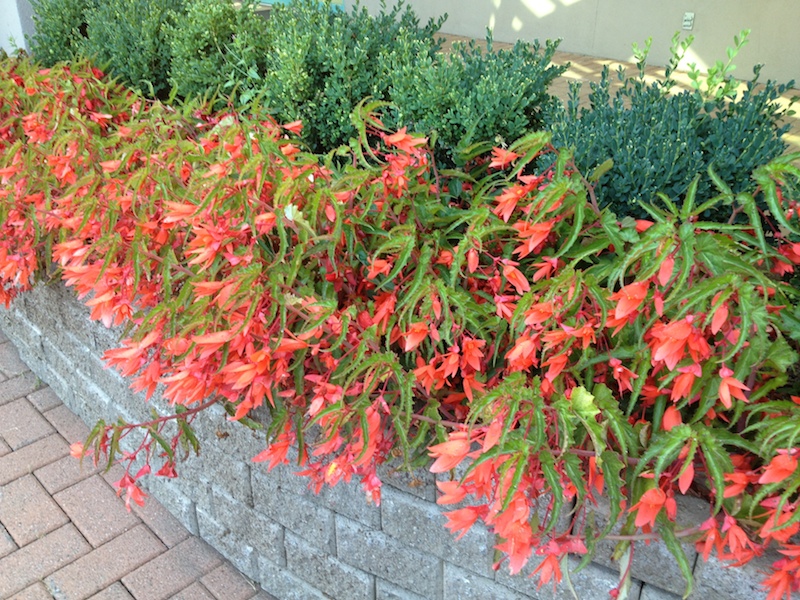
[[[339,560],[411,590],[423,598],[442,597],[442,561],[414,550],[382,531],[336,516]]]

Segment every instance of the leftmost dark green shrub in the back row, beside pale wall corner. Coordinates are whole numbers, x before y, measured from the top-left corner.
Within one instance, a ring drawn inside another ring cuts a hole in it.
[[[74,59],[86,40],[86,13],[94,0],[31,0],[36,33],[30,38],[31,53],[51,67]]]

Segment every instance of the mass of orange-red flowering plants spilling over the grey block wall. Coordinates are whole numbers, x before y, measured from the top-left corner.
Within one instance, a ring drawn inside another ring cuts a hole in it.
[[[547,582],[603,538],[625,564],[661,538],[689,580],[681,540],[736,564],[775,545],[772,596],[800,581],[799,292],[781,279],[800,265],[800,154],[758,167],[752,194],[720,186],[711,203],[741,225],[698,222],[695,185],[617,220],[546,133],[438,172],[366,107],[342,166],[294,125],[179,112],[100,76],[0,64],[0,300],[57,264],[93,318],[128,326],[107,362],[176,412],[126,452],[135,425],[102,422],[72,451],[119,459],[129,502],[150,463],[173,477],[179,444],[197,449],[199,411],[248,423],[265,406],[254,460],[296,445],[316,490],[355,477],[379,500],[395,455],[459,468],[439,481],[440,504],[467,501],[447,527],[484,521],[512,573],[534,548]],[[685,529],[683,494],[709,500]]]

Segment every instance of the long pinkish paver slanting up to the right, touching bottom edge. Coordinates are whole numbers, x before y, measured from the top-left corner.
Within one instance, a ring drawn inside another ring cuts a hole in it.
[[[59,569],[45,584],[56,597],[83,600],[137,569],[164,551],[144,525],[134,527]]]

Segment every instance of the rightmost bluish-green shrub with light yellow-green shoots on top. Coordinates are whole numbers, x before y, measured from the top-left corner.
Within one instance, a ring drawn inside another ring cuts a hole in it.
[[[737,38],[736,48],[729,50],[731,60],[746,38],[746,32]],[[663,207],[659,192],[676,201],[698,176],[698,198],[710,199],[716,188],[707,174],[709,167],[734,192],[751,190],[752,171],[786,148],[781,136],[789,125],[780,124],[785,110],[775,101],[793,82],[759,86],[757,68],[737,98],[732,65],[718,63],[705,79],[705,90],[695,68],[690,73],[694,89],[675,94],[672,74],[690,43],[691,38],[679,43],[676,35],[662,80],[647,83],[644,78],[646,47],[638,53],[638,75],[618,72],[621,87],[613,97],[605,68],[601,81],[592,84],[590,108],[579,107],[578,84],[572,87],[567,107],[548,114],[554,142],[574,149],[581,170],[613,161],[595,193],[601,206],[619,215],[646,216],[639,202]],[[703,216],[719,219],[723,214]]]

